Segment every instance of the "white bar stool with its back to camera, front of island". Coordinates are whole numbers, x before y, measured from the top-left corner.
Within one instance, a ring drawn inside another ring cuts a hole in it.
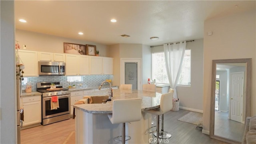
[[[122,142],[130,140],[130,136],[125,135],[125,123],[135,122],[141,119],[141,98],[131,98],[123,100],[113,100],[112,102],[112,114],[108,114],[108,118],[112,124],[122,123],[122,136],[117,136],[114,141]],[[118,138],[122,137],[122,140]],[[128,137],[128,139],[126,139]]]

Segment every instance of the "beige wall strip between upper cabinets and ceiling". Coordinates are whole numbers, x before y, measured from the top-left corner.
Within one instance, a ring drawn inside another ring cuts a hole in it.
[[[95,45],[96,50],[100,51],[100,56],[107,56],[107,46],[85,40],[76,40],[37,32],[16,29],[16,40],[19,41],[21,49],[26,45],[28,50],[37,50],[43,52],[64,53],[64,42],[74,44]]]

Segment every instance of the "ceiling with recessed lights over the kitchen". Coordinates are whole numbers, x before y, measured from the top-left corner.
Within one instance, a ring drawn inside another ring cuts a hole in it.
[[[15,24],[21,30],[99,44],[156,46],[203,38],[204,20],[255,9],[255,2],[15,0]],[[150,40],[153,36],[159,40]]]

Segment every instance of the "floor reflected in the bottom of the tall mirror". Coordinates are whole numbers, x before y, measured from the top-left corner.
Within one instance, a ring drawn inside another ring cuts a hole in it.
[[[215,112],[214,134],[242,142],[244,124],[228,119],[228,112]]]

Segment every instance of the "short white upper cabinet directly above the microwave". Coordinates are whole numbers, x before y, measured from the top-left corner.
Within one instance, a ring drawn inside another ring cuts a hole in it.
[[[38,52],[38,60],[51,61],[51,62],[65,62],[65,54],[52,53],[52,52]]]

